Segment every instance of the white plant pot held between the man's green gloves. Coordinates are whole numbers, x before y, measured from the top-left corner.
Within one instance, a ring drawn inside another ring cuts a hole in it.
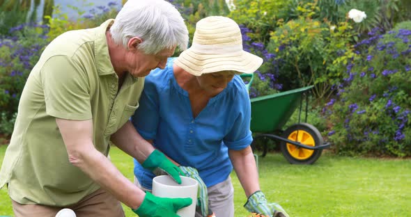
[[[194,217],[196,215],[197,192],[199,184],[190,177],[181,178],[181,184],[177,184],[168,175],[160,175],[153,179],[153,195],[160,198],[192,198],[193,202],[188,207],[177,211],[181,217]]]

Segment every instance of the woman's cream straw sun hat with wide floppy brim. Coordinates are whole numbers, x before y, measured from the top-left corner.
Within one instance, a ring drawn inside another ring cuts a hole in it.
[[[226,70],[250,74],[263,59],[242,49],[240,27],[233,19],[212,16],[197,22],[192,46],[174,63],[195,76]]]

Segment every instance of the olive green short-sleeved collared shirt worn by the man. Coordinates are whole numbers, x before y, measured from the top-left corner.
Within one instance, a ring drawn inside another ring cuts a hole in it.
[[[111,134],[137,109],[144,79],[127,74],[118,90],[105,36],[113,22],[63,33],[33,67],[0,172],[16,202],[63,207],[100,188],[68,161],[56,118],[92,119],[94,146],[108,156]]]

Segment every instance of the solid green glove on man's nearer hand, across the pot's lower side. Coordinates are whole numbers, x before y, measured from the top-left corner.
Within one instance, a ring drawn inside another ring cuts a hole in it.
[[[158,198],[146,191],[138,209],[132,209],[140,217],[178,217],[178,209],[188,207],[192,204],[192,198]]]

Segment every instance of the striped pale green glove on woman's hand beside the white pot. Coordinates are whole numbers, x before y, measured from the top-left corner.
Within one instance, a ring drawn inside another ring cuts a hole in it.
[[[210,211],[208,210],[208,191],[207,186],[203,182],[199,175],[199,171],[196,168],[189,166],[180,166],[181,171],[184,172],[185,176],[196,179],[199,183],[199,193],[197,194],[197,207],[201,210],[203,216],[208,216]],[[212,214],[212,211],[211,211]]]

